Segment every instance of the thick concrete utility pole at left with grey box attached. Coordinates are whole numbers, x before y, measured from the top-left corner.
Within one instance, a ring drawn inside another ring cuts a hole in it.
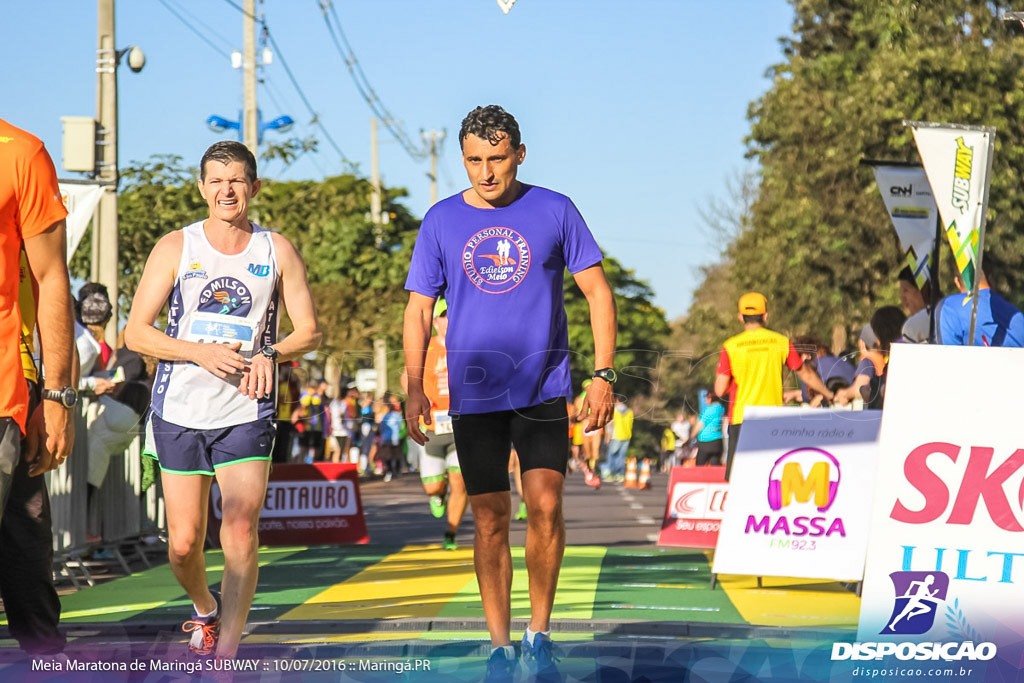
[[[96,5],[96,119],[101,141],[98,179],[103,183],[93,222],[93,280],[106,287],[114,314],[106,324],[106,342],[118,336],[118,54],[114,41],[114,0]]]

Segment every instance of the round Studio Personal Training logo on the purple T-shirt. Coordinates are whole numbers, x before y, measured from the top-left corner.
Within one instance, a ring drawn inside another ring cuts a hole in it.
[[[529,245],[508,227],[479,230],[462,250],[462,264],[470,281],[488,294],[515,289],[529,271]]]

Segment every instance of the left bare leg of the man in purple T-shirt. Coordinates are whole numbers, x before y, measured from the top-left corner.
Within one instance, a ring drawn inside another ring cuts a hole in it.
[[[512,551],[509,549],[509,521],[512,496],[509,492],[469,497],[476,527],[473,537],[473,568],[480,585],[480,602],[494,647],[511,645]]]

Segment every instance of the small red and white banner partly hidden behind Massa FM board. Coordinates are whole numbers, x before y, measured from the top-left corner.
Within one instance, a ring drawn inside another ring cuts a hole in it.
[[[659,546],[714,548],[729,484],[725,467],[673,467]]]

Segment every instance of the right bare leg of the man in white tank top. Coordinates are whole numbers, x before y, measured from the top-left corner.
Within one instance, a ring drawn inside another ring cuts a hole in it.
[[[217,656],[233,657],[256,594],[259,564],[259,512],[266,497],[268,461],[251,460],[217,469],[223,504],[220,546],[224,550],[221,580],[220,638]]]

